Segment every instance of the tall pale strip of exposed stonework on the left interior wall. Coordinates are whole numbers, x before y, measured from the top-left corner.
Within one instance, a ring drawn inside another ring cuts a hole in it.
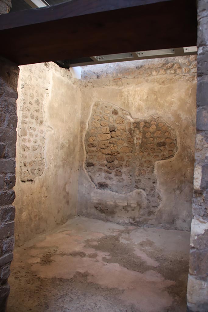
[[[25,75],[21,76],[19,82],[21,84],[19,107],[21,122],[18,125],[17,133],[20,138],[21,150],[20,178],[22,182],[32,182],[35,177],[41,176],[45,168],[44,102],[48,95],[48,81],[42,77],[41,81],[45,85],[35,83],[40,78],[39,71],[35,66],[25,66],[25,69]]]

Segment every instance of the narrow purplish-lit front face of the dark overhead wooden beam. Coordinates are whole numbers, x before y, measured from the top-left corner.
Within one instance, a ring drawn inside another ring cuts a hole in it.
[[[167,1],[171,0],[73,0],[36,10],[13,12],[9,18],[4,14],[0,18],[0,30]]]

